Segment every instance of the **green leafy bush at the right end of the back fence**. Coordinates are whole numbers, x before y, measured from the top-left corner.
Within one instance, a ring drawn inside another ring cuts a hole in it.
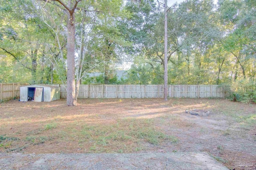
[[[234,98],[239,102],[256,103],[256,82],[250,79],[232,82],[230,86]]]

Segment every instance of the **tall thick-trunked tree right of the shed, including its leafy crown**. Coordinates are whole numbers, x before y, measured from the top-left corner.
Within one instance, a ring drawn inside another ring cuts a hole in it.
[[[54,1],[43,1],[60,7],[62,12],[66,11],[68,40],[66,45],[67,105],[75,106],[79,84],[86,73],[96,68],[96,66],[102,65],[105,63],[104,61],[110,60],[112,54],[115,53],[112,48],[115,47],[116,44],[127,44],[122,40],[122,37],[118,37],[120,33],[118,28],[115,27],[118,20],[122,20],[122,18],[127,16],[127,12],[122,10],[122,0],[113,0],[111,2],[102,0],[98,2],[92,1],[92,3],[82,0],[69,0],[68,2],[54,0],[58,2],[58,4],[52,3]],[[96,9],[94,9],[94,7]],[[75,12],[75,10],[77,11]],[[75,13],[77,26],[75,26]],[[58,12],[57,14],[60,16]],[[58,15],[56,16],[57,18]],[[45,16],[48,17],[47,14]],[[55,24],[57,27],[53,28],[50,26],[53,20],[54,19],[46,23],[52,29],[58,30],[59,25],[64,25],[63,23],[54,21],[58,24]],[[54,32],[56,32],[57,41],[59,43],[57,33],[60,31]],[[98,41],[95,41],[97,39]],[[99,48],[97,49],[95,47]],[[58,50],[62,51],[61,47],[58,47]],[[64,58],[63,54],[62,58]],[[65,62],[62,62],[62,64],[65,64]]]

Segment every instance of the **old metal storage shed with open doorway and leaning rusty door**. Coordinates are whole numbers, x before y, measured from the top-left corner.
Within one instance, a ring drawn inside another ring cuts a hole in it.
[[[20,87],[20,101],[51,102],[60,99],[60,87],[38,84]]]

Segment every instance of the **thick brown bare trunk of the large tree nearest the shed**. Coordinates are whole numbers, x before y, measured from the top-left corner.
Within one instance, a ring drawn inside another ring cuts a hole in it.
[[[67,12],[68,15],[68,42],[67,42],[67,106],[76,106],[75,92],[75,15]]]

